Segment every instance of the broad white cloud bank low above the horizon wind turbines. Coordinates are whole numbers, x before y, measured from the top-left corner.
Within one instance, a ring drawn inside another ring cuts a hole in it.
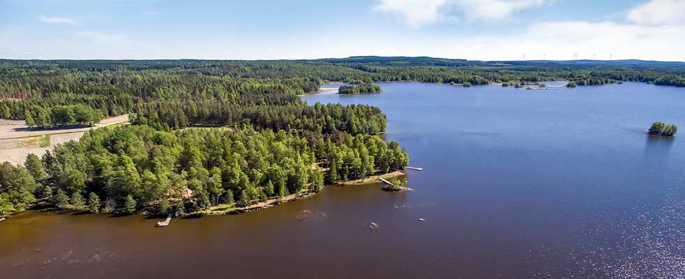
[[[479,36],[452,45],[451,57],[486,60],[650,59],[685,61],[682,26],[658,27],[615,22],[541,22],[516,36]],[[447,53],[442,53],[447,55]]]

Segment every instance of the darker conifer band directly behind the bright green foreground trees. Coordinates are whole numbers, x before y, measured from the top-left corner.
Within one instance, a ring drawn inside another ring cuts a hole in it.
[[[134,107],[132,123],[161,130],[188,126],[244,126],[258,129],[311,130],[317,133],[343,131],[352,135],[385,130],[387,119],[377,107],[304,102],[291,105],[236,106],[229,102],[199,100],[155,102]]]

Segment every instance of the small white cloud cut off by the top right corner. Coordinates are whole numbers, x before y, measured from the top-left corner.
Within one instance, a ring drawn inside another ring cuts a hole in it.
[[[638,24],[675,24],[685,22],[685,0],[649,0],[628,10],[627,18]]]

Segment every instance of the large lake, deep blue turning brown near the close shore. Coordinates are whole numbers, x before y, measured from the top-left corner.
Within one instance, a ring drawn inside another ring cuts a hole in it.
[[[381,86],[303,98],[380,107],[425,168],[413,192],[327,187],[166,228],[28,211],[0,223],[0,277],[685,278],[685,136],[646,135],[684,124],[685,89]]]

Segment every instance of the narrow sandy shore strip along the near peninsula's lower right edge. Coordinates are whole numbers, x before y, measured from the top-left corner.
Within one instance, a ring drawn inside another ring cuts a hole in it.
[[[293,202],[298,199],[306,199],[308,197],[312,197],[314,195],[317,195],[321,193],[323,190],[326,189],[326,187],[331,187],[331,186],[338,186],[338,187],[345,187],[345,186],[365,186],[373,183],[380,183],[380,179],[390,179],[393,177],[397,176],[403,176],[405,175],[405,172],[401,170],[396,170],[394,172],[389,172],[387,174],[375,174],[372,176],[365,177],[363,179],[356,179],[356,180],[351,180],[351,181],[343,181],[343,182],[338,182],[335,184],[326,184],[324,187],[319,191],[319,192],[303,192],[303,193],[298,193],[298,194],[290,194],[284,197],[278,197],[278,198],[273,198],[273,199],[267,199],[264,202],[258,202],[257,204],[252,204],[247,207],[243,208],[238,208],[235,207],[231,204],[219,204],[217,206],[212,206],[210,209],[206,211],[195,211],[191,213],[186,213],[182,216],[183,217],[188,217],[188,218],[194,218],[194,217],[201,217],[201,216],[226,216],[226,215],[235,215],[235,214],[240,214],[240,213],[245,213],[245,212],[250,212],[250,211],[257,211],[261,209],[268,209],[269,207],[272,206],[277,206],[278,204],[284,204],[287,202]]]

